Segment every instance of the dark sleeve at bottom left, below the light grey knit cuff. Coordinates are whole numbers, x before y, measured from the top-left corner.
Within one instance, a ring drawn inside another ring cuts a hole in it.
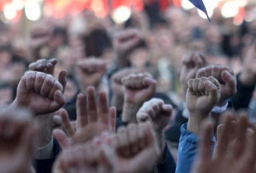
[[[53,139],[53,153],[54,157],[52,159],[36,159],[35,162],[35,169],[36,173],[52,173],[52,166],[57,158],[58,154],[60,153],[61,148],[59,146],[59,143],[54,138]]]

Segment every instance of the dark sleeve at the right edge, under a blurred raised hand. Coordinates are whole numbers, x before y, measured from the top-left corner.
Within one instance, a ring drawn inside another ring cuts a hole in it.
[[[240,75],[241,73],[237,75],[237,93],[230,99],[235,110],[248,109],[250,100],[253,96],[253,91],[255,89],[255,85],[243,85],[239,81]]]

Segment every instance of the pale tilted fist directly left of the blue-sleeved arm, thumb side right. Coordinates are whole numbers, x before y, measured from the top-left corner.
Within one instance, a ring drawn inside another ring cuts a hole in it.
[[[137,121],[151,121],[156,132],[162,130],[169,124],[172,115],[172,106],[165,104],[162,99],[152,98],[145,102],[137,113]]]

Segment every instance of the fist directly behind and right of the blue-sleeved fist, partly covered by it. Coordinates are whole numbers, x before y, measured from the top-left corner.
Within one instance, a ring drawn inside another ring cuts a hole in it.
[[[234,71],[222,65],[211,65],[197,71],[197,78],[214,77],[221,84],[221,98],[218,105],[225,105],[228,98],[236,94],[236,78]]]

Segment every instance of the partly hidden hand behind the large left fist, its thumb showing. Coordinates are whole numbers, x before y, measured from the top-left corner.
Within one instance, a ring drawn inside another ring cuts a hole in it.
[[[58,63],[58,60],[56,59],[50,59],[50,60],[40,59],[36,62],[29,64],[28,68],[31,71],[39,71],[39,72],[43,72],[48,75],[54,76],[55,65],[57,63]],[[67,82],[66,75],[67,75],[66,71],[60,71],[59,77],[58,77],[59,83],[61,83],[61,85],[63,86],[63,91],[65,91],[66,82]]]

